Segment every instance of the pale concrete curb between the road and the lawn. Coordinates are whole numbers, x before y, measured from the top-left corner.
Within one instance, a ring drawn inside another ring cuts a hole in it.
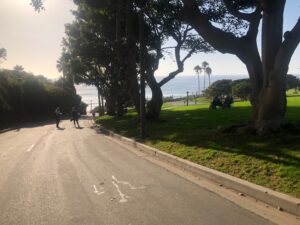
[[[104,127],[99,126],[99,128],[104,134],[116,138],[121,142],[140,150],[141,152],[155,156],[160,160],[175,165],[176,167],[186,170],[196,176],[205,177],[215,183],[222,184],[224,187],[251,196],[261,202],[274,206],[279,210],[284,210],[293,215],[300,216],[300,199],[298,198],[294,198],[286,194],[273,191],[269,188],[265,188],[228,174],[198,165],[185,159],[178,158],[130,138],[123,137],[107,130]]]

